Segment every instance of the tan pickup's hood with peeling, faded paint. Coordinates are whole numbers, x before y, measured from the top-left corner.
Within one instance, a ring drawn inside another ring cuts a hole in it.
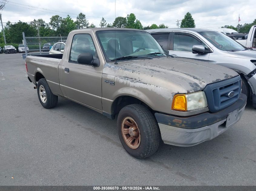
[[[186,58],[155,58],[136,60],[135,62],[119,62],[113,67],[123,71],[116,71],[116,76],[120,75],[123,78],[163,88],[178,85],[179,89],[183,88],[184,91],[180,93],[200,91],[207,84],[238,75],[223,66]]]

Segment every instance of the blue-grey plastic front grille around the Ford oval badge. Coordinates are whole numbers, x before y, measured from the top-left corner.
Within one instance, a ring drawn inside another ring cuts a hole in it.
[[[234,95],[229,97],[228,94],[231,91],[234,91]],[[240,76],[237,76],[224,81],[208,84],[205,86],[204,92],[209,110],[211,112],[217,112],[238,100],[241,93],[241,78]]]

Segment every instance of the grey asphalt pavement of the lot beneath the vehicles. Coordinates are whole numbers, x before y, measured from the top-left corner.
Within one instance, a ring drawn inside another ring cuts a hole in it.
[[[250,103],[213,140],[161,144],[140,160],[122,147],[116,119],[64,98],[45,109],[33,86],[22,54],[0,54],[0,185],[256,185]]]

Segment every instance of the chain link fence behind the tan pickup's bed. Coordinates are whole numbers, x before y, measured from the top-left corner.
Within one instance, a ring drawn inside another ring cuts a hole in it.
[[[68,37],[26,37],[23,32],[24,47],[20,47],[19,52],[24,52],[26,56],[49,54],[55,43],[64,42]]]

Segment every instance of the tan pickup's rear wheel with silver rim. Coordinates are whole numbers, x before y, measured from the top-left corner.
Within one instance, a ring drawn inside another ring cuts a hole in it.
[[[46,109],[53,108],[58,103],[58,96],[52,94],[45,78],[41,78],[37,83],[37,95],[40,103]]]

